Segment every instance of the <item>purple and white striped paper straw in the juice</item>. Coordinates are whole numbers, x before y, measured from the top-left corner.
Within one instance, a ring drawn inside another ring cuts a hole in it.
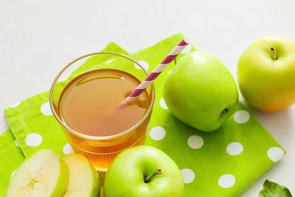
[[[189,44],[188,39],[183,38],[177,46],[166,56],[166,58],[148,75],[148,77],[120,104],[119,108],[124,108],[138,98],[148,86],[155,80],[161,72],[181,53],[181,51]]]

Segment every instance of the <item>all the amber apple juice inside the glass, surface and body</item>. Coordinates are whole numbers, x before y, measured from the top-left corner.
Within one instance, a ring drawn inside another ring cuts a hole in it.
[[[57,113],[72,132],[64,133],[76,153],[83,154],[98,171],[106,171],[116,155],[131,146],[143,145],[150,114],[145,91],[124,109],[118,104],[141,81],[117,69],[97,69],[74,78],[62,91]]]

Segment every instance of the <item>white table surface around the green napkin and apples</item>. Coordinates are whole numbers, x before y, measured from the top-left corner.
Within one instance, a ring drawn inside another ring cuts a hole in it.
[[[239,55],[254,39],[295,40],[294,7],[294,0],[0,0],[0,133],[7,106],[49,90],[63,66],[110,41],[133,53],[182,32],[236,78]],[[288,153],[240,196],[257,197],[266,179],[295,195],[295,106],[250,111]]]

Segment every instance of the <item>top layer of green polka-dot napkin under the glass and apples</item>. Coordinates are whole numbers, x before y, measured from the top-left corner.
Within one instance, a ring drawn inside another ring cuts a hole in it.
[[[129,56],[151,72],[183,37],[181,33],[174,35]],[[115,46],[118,50],[117,45],[112,47]],[[114,51],[112,47],[106,50]],[[194,47],[189,45],[184,53],[192,50]],[[125,51],[120,53],[126,54]],[[177,59],[181,56],[183,54]],[[135,66],[118,58],[108,61],[92,57],[60,86],[98,64],[101,67],[118,65],[131,73],[139,72]],[[198,131],[178,121],[162,99],[163,83],[174,66],[171,63],[154,82],[156,99],[147,144],[161,149],[177,163],[185,182],[184,197],[236,197],[282,158],[285,150],[242,103],[225,125],[214,132]],[[11,131],[25,157],[42,148],[54,149],[60,156],[71,152],[50,111],[48,94],[31,97],[5,110]],[[11,144],[13,139],[10,141]],[[10,155],[5,157],[11,160]]]

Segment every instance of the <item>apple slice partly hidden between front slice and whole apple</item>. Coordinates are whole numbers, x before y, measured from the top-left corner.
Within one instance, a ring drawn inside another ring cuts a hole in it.
[[[62,159],[69,169],[68,186],[63,197],[99,197],[99,177],[86,157],[74,153]]]

